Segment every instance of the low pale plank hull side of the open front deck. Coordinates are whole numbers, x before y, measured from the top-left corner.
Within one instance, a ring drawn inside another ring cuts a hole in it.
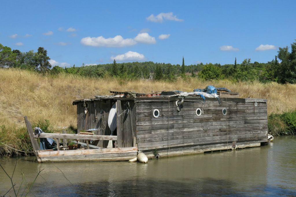
[[[137,147],[38,151],[41,162],[127,161],[137,156]]]

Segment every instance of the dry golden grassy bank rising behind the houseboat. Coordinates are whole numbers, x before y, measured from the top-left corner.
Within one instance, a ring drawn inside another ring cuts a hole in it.
[[[124,81],[66,74],[44,76],[24,70],[0,69],[0,142],[21,150],[30,149],[23,118],[25,115],[35,125],[38,121],[49,120],[50,129],[58,131],[62,127],[76,125],[76,106],[72,105],[72,101],[107,95],[110,94],[109,90],[145,93],[163,90],[192,91],[207,85],[227,87],[233,92],[239,92],[241,98],[268,99],[268,114],[282,114],[296,108],[296,85],[292,84],[203,81],[197,78],[179,78],[173,83]],[[0,143],[0,152],[7,150],[9,149]]]

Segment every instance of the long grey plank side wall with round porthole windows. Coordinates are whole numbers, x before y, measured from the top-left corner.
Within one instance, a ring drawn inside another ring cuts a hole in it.
[[[188,99],[188,98],[186,98]],[[136,141],[140,151],[181,151],[202,146],[227,147],[233,144],[260,145],[267,141],[267,102],[186,101],[177,111],[176,101],[138,101],[136,105]],[[259,100],[262,101],[262,100]],[[202,114],[196,115],[200,108]],[[227,114],[222,114],[222,109]],[[153,116],[158,109],[159,117]],[[203,148],[205,149],[205,148]],[[213,148],[211,148],[213,149]],[[190,152],[190,151],[189,151]]]

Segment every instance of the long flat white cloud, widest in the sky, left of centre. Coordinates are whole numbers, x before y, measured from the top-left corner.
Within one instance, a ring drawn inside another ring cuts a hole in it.
[[[86,46],[105,46],[105,47],[125,47],[136,44],[131,38],[123,39],[121,35],[117,35],[114,38],[99,37],[86,37],[81,39],[81,44]]]

